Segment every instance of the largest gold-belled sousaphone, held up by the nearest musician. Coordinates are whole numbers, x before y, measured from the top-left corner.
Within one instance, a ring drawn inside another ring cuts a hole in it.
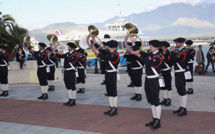
[[[124,27],[128,30],[127,35],[125,36],[125,39],[124,39],[124,44],[125,44],[126,49],[128,51],[133,51],[132,49],[129,48],[127,41],[128,41],[128,38],[130,36],[135,36],[135,37],[137,37],[140,40],[140,42],[141,42],[140,50],[142,50],[142,48],[143,48],[143,41],[141,40],[141,38],[139,36],[136,35],[139,32],[138,29],[137,29],[137,27],[135,25],[131,24],[131,23],[126,23],[124,25]]]

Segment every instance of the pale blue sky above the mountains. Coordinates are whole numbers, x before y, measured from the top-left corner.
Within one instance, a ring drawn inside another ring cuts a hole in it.
[[[122,15],[127,16],[178,2],[195,5],[215,0],[0,0],[0,11],[31,30],[58,22],[104,22],[118,15],[118,4]]]

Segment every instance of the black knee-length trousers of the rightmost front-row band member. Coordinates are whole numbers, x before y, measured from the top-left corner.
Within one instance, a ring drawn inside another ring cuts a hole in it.
[[[186,80],[184,72],[175,73],[175,86],[180,96],[186,95]]]

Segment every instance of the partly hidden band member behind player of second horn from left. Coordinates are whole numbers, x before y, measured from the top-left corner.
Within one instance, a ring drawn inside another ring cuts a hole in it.
[[[83,49],[78,49],[78,77],[77,77],[77,84],[80,84],[80,88],[77,93],[84,93],[85,92],[85,69],[87,64],[87,57],[84,54]]]

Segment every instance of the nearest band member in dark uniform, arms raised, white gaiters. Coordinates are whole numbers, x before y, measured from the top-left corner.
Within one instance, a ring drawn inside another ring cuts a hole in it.
[[[161,127],[161,105],[159,101],[159,82],[160,70],[163,66],[163,56],[159,52],[160,42],[158,40],[149,41],[151,53],[132,51],[131,54],[140,58],[146,65],[145,92],[147,101],[151,104],[153,120],[146,123],[146,127],[158,129]]]

